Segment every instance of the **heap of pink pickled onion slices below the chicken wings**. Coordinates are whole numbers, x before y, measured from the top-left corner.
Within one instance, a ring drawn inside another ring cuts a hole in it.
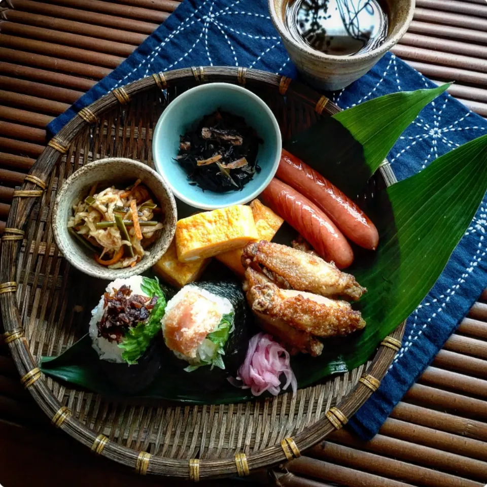
[[[260,396],[265,391],[277,396],[281,392],[281,374],[286,376],[283,391],[291,385],[295,393],[297,382],[288,351],[273,341],[270,335],[258,333],[249,341],[247,356],[237,371],[236,379],[231,377],[229,381],[236,387],[250,389],[254,396]]]

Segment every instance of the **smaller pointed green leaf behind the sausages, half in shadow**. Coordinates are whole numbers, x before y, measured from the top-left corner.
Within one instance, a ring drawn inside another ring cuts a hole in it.
[[[285,148],[355,198],[401,133],[448,86],[379,96],[322,118]]]

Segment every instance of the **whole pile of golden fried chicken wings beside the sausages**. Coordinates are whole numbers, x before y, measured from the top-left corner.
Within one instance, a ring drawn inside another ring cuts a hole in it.
[[[243,290],[262,328],[281,339],[291,351],[317,356],[317,337],[347,335],[365,321],[349,302],[366,291],[355,277],[318,256],[265,240],[243,249],[246,268]]]

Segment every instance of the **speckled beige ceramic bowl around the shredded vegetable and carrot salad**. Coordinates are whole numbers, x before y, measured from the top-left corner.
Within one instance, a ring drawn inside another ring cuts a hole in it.
[[[97,183],[98,190],[102,190],[117,184],[121,187],[128,186],[137,179],[141,179],[154,195],[161,208],[161,214],[164,215],[164,228],[148,247],[150,255],[145,256],[133,267],[109,269],[98,264],[89,250],[69,234],[67,221],[73,215],[72,204],[75,200],[86,197],[94,183]],[[86,274],[114,281],[117,278],[140,274],[154,265],[169,247],[177,220],[176,201],[167,183],[156,171],[132,159],[112,157],[86,164],[64,181],[54,204],[52,228],[57,246],[69,263]]]

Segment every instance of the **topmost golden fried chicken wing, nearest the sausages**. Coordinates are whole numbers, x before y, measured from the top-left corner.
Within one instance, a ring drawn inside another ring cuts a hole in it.
[[[321,257],[265,240],[248,243],[242,264],[264,272],[284,289],[308,291],[322,296],[346,296],[357,300],[366,291],[351,274],[341,272]]]

